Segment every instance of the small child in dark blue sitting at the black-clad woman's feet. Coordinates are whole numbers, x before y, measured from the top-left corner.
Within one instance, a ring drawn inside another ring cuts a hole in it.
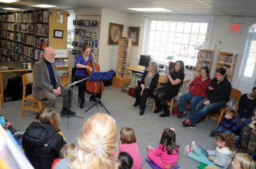
[[[236,133],[237,123],[235,119],[235,110],[230,107],[225,108],[225,116],[220,121],[220,126],[217,129],[212,129],[211,136],[216,136],[221,132],[224,133]]]

